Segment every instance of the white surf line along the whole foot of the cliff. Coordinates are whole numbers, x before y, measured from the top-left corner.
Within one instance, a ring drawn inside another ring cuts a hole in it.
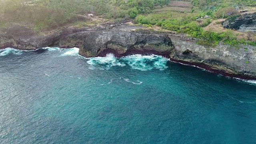
[[[14,48],[4,48],[0,50],[0,56],[8,56],[10,54],[21,55],[24,52],[37,52],[40,50],[45,50],[48,52],[53,52],[53,51],[59,52],[60,53],[59,56],[80,56],[79,48],[66,49],[66,48],[57,48],[57,47],[53,47],[53,48],[44,47],[44,48],[38,48],[36,50],[18,50]],[[107,54],[106,57],[96,57],[96,58],[85,58],[83,56],[80,56],[80,57],[88,60],[87,63],[91,65],[89,69],[92,69],[92,70],[94,70],[95,68],[100,70],[110,69],[112,66],[122,66],[122,67],[131,66],[133,69],[137,69],[141,71],[153,70],[153,69],[165,70],[166,68],[168,68],[168,66],[166,66],[166,63],[170,61],[162,56],[158,56],[154,54],[147,55],[147,56],[135,54],[135,55],[125,56],[122,58],[115,58],[114,54]],[[180,62],[175,62],[175,63],[180,63]],[[180,63],[180,64],[183,64],[183,63]],[[189,65],[189,64],[183,64],[183,65]],[[193,65],[189,65],[189,66],[193,66]],[[198,66],[194,66],[194,67],[200,68]],[[206,70],[204,68],[200,68],[200,69]],[[235,78],[235,79],[242,82],[256,85],[256,80],[244,80],[240,78]]]

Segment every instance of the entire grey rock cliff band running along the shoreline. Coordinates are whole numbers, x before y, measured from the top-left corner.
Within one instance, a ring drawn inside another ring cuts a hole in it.
[[[183,34],[149,31],[138,27],[66,29],[58,33],[38,35],[27,29],[9,29],[0,34],[0,48],[33,50],[46,46],[79,48],[85,57],[117,57],[130,54],[158,54],[174,62],[196,65],[225,76],[256,79],[256,47],[241,45],[239,49],[219,44],[214,48],[196,44],[196,39]]]

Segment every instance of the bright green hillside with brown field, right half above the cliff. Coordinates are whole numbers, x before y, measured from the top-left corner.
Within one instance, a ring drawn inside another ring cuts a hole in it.
[[[219,42],[237,48],[239,44],[256,46],[256,34],[224,29],[220,24],[222,18],[237,18],[239,10],[244,8],[256,12],[254,7],[250,7],[254,4],[254,0],[173,0],[167,6],[156,7],[151,14],[139,14],[134,22],[147,27],[186,33],[198,38],[198,44],[206,46],[216,46]],[[211,24],[212,22],[214,23]]]

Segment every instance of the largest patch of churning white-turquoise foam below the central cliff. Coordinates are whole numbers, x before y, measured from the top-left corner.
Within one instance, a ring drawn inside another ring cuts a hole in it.
[[[168,68],[166,66],[167,61],[167,58],[153,54],[148,56],[136,54],[122,58],[115,58],[114,54],[107,54],[106,57],[89,58],[87,63],[93,67],[91,69],[97,67],[109,69],[112,66],[131,66],[133,69],[146,71],[153,69],[164,70]]]

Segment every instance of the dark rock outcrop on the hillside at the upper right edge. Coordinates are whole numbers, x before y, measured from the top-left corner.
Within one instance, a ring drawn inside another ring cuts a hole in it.
[[[223,27],[235,29],[241,32],[256,32],[256,13],[244,14],[234,20],[226,20],[223,23]]]

